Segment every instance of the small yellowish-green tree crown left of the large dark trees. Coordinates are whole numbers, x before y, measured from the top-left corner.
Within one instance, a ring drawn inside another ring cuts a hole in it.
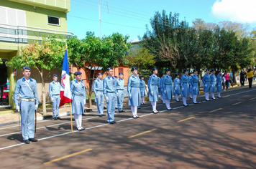
[[[147,70],[152,68],[156,62],[155,57],[150,54],[148,49],[138,47],[130,49],[126,59],[129,62],[129,67],[137,67],[139,72],[142,69]]]

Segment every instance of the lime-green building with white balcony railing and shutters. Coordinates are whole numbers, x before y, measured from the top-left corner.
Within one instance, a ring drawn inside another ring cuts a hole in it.
[[[0,0],[0,58],[3,62],[0,64],[0,108],[14,108],[15,83],[23,76],[21,70],[8,67],[5,62],[19,54],[24,45],[40,43],[43,37],[53,34],[72,36],[67,32],[69,11],[70,0]],[[41,100],[42,85],[35,69],[32,69],[31,77],[38,82]]]

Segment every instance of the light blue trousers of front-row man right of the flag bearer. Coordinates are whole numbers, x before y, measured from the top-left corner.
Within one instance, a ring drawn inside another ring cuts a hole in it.
[[[108,113],[107,121],[114,121],[114,112],[116,110],[116,93],[106,92],[106,96],[109,97],[109,101],[106,102],[106,112]]]

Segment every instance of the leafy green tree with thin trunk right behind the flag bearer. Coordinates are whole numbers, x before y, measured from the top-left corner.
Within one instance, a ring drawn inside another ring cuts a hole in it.
[[[101,39],[92,32],[87,32],[85,39],[80,40],[77,37],[68,39],[70,63],[78,69],[83,69],[88,77],[89,86],[86,92],[89,107],[91,107],[91,94],[96,72],[99,69],[104,72],[107,67],[127,64],[125,54],[130,47],[130,44],[127,43],[128,38],[122,34],[114,33]]]

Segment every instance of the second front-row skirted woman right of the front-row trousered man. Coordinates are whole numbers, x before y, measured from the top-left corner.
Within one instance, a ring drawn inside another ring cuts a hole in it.
[[[148,95],[150,97],[150,102],[152,105],[152,111],[154,114],[157,114],[157,101],[158,101],[158,83],[159,83],[159,77],[157,77],[157,68],[152,68],[152,75],[150,76],[150,79],[148,80]]]

